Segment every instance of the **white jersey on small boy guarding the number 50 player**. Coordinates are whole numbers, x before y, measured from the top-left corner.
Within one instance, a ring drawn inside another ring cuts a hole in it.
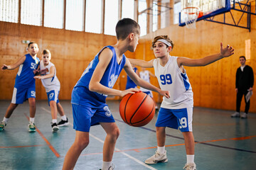
[[[47,74],[50,74],[50,67],[54,66],[53,63],[49,62],[49,64],[45,67],[43,65],[43,61],[41,60],[40,62],[40,69],[48,69],[48,72],[46,72]],[[43,86],[46,88],[46,93],[48,93],[49,91],[52,90],[57,90],[60,91],[60,81],[58,80],[58,78],[56,77],[56,68],[54,70],[54,76],[50,77],[48,79],[41,79]]]

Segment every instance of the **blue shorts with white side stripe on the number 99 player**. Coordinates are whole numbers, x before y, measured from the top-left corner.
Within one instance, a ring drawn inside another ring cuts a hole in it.
[[[193,108],[160,108],[156,127],[169,127],[179,129],[181,132],[192,132],[192,117]]]

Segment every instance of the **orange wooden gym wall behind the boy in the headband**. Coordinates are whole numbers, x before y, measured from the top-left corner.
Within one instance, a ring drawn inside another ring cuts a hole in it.
[[[252,8],[255,8],[255,4]],[[239,13],[233,13],[233,16],[238,19]],[[218,19],[223,19],[221,16],[218,17]],[[242,18],[240,22],[245,24],[245,18]],[[177,25],[170,26],[142,37],[135,56],[142,59],[138,56],[145,53],[146,60],[153,59],[154,55],[150,53],[150,46],[151,40],[156,35],[169,35],[171,40],[174,40],[174,50],[171,55],[193,59],[218,53],[220,42],[223,42],[223,45],[232,45],[235,48],[235,55],[206,67],[185,67],[185,69],[193,89],[194,106],[235,111],[235,73],[236,69],[240,67],[239,57],[245,55],[245,40],[249,39],[251,40],[251,56],[247,64],[254,69],[256,79],[256,24],[253,24],[255,22],[256,16],[251,16],[251,32],[243,28],[207,21],[196,23],[196,30]],[[152,84],[157,85],[154,81]],[[256,89],[255,86],[254,89]],[[244,111],[244,108],[245,103],[242,99],[241,111]],[[250,112],[256,113],[255,94],[251,98]]]

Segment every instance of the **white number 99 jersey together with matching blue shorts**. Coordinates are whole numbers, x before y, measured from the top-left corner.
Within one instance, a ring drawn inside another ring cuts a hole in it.
[[[163,67],[159,59],[153,62],[155,75],[161,90],[170,91],[170,98],[163,98],[156,127],[180,129],[181,132],[192,131],[193,91],[186,70],[178,67],[178,57],[169,57]]]

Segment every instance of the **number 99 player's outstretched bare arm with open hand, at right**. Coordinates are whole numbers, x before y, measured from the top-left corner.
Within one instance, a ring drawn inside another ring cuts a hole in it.
[[[177,63],[178,63],[178,67],[181,67],[181,65],[190,66],[190,67],[206,66],[210,63],[213,63],[224,57],[229,57],[230,55],[233,55],[233,54],[234,54],[234,49],[232,46],[227,45],[225,48],[223,48],[223,43],[220,42],[220,53],[218,54],[203,57],[201,59],[189,59],[186,57],[178,57]]]

